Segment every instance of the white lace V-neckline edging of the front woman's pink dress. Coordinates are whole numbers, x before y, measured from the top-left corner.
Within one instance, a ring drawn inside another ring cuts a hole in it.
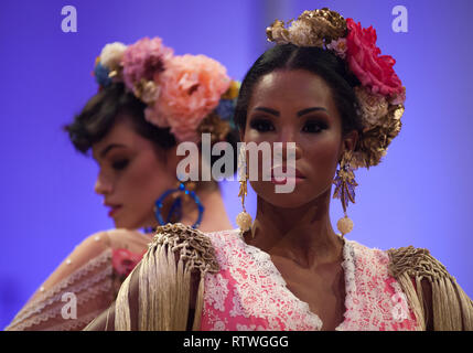
[[[250,252],[248,252],[249,254],[260,254],[260,256],[258,256],[259,260],[261,258],[265,258],[267,261],[267,265],[271,268],[271,272],[273,274],[273,276],[276,277],[276,281],[278,284],[281,284],[282,290],[284,290],[289,297],[291,297],[295,302],[299,303],[300,307],[304,308],[304,310],[308,312],[308,315],[312,317],[312,319],[314,320],[314,322],[318,322],[318,330],[321,331],[323,328],[323,321],[320,319],[320,317],[313,312],[310,309],[310,306],[308,302],[303,301],[302,299],[300,299],[299,297],[297,297],[289,288],[288,285],[284,280],[284,278],[282,277],[281,272],[279,271],[279,269],[276,267],[275,263],[271,259],[271,256],[260,249],[257,246],[254,245],[249,245],[245,242],[245,239],[239,235],[239,231],[237,233],[237,236],[239,237],[239,239],[244,243],[244,246],[248,249],[250,249]],[[340,236],[343,240],[343,250],[342,250],[342,268],[343,268],[343,276],[344,276],[344,281],[345,281],[345,299],[344,299],[344,307],[345,307],[345,311],[343,312],[343,320],[342,322],[336,325],[335,331],[340,331],[343,330],[344,327],[347,323],[347,317],[348,317],[348,311],[350,311],[350,306],[347,304],[351,300],[353,300],[352,296],[355,292],[355,263],[354,263],[354,250],[351,244],[351,240],[347,240],[346,238],[342,237],[340,234],[337,234],[337,236]]]

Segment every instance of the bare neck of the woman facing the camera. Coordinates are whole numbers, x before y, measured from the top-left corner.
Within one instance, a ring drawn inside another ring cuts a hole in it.
[[[248,232],[245,240],[304,268],[340,259],[343,242],[330,222],[330,196],[329,189],[313,202],[295,208],[277,207],[258,197],[251,234]]]

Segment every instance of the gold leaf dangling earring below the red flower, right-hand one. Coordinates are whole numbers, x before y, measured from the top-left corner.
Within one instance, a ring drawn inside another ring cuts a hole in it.
[[[336,227],[340,233],[342,233],[342,236],[353,229],[353,221],[346,215],[346,207],[348,206],[348,202],[355,203],[355,188],[358,185],[355,181],[353,169],[350,167],[351,160],[352,151],[345,152],[340,161],[340,169],[336,171],[336,176],[333,181],[335,184],[333,199],[340,199],[342,201],[343,213],[345,214],[345,216],[340,218],[336,223]]]

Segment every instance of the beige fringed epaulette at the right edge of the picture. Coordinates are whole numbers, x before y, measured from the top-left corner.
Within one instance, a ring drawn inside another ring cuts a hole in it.
[[[473,302],[456,284],[447,268],[429,250],[412,246],[388,250],[389,274],[402,288],[418,323],[418,330],[426,330],[430,310],[426,308],[422,295],[422,279],[432,288],[433,330],[472,331]],[[412,279],[416,281],[413,287]]]

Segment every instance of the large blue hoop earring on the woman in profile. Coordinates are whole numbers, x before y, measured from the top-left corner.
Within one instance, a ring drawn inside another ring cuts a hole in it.
[[[201,201],[198,200],[197,195],[194,191],[189,191],[185,189],[184,183],[179,183],[178,189],[170,189],[166,192],[164,192],[154,203],[154,215],[158,220],[160,225],[165,225],[168,223],[178,223],[182,218],[182,197],[176,197],[171,205],[171,210],[168,214],[166,220],[162,217],[161,210],[163,207],[164,199],[169,195],[175,193],[175,192],[184,192],[184,195],[189,195],[194,200],[195,204],[197,205],[198,210],[198,217],[197,221],[192,225],[193,228],[198,228],[202,222],[202,216],[204,214],[204,206],[201,204]]]

